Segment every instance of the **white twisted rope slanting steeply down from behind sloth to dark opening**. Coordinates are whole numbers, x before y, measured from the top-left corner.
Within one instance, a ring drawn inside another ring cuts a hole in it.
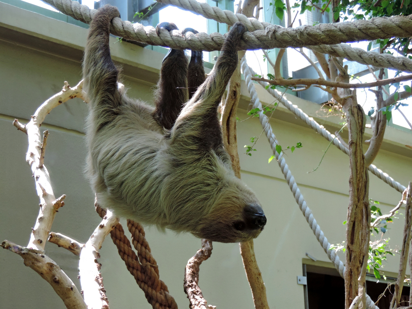
[[[276,151],[276,145],[278,145],[278,141],[276,140],[276,136],[273,133],[272,126],[269,123],[269,118],[263,113],[262,103],[260,103],[259,101],[258,93],[256,92],[255,86],[252,81],[252,76],[255,74],[253,70],[249,68],[248,64],[246,63],[245,57],[243,57],[241,60],[241,67],[242,67],[243,75],[246,80],[246,85],[248,87],[251,101],[253,102],[253,108],[259,108],[261,110],[259,112],[259,120],[260,120],[260,123],[262,124],[263,130],[266,133],[267,139],[269,140],[269,144],[272,147],[273,154],[276,157],[276,161],[278,162],[279,167],[281,168],[283,176],[285,176],[286,182],[288,183],[289,188],[292,191],[293,196],[295,197],[295,200],[297,204],[299,205],[300,210],[305,216],[306,221],[309,223],[309,227],[314,232],[316,239],[319,241],[323,250],[325,250],[325,253],[328,255],[329,260],[333,263],[333,265],[339,272],[340,276],[342,276],[343,278],[344,273],[345,273],[345,266],[343,265],[343,262],[339,259],[339,256],[336,255],[335,250],[329,250],[330,243],[328,242],[328,239],[323,234],[321,227],[316,222],[316,219],[314,218],[314,215],[311,209],[307,206],[307,203],[304,200],[302,193],[300,193],[300,190],[296,184],[295,178],[292,176],[289,166],[288,164],[286,164],[285,158],[283,157],[283,152],[279,154]],[[366,295],[366,303],[369,309],[379,309],[377,306],[375,306],[374,302],[369,297],[369,295]]]

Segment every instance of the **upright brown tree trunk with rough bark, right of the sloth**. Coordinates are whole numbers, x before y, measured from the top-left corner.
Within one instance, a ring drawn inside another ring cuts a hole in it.
[[[349,128],[349,208],[346,227],[345,308],[356,296],[361,297],[359,308],[366,308],[365,276],[370,239],[370,206],[368,173],[363,155],[365,114],[356,101],[356,89],[343,101]]]

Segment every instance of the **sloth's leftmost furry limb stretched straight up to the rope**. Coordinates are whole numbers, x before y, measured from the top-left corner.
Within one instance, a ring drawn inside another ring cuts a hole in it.
[[[119,71],[111,59],[109,48],[110,22],[119,16],[116,7],[105,5],[99,9],[90,23],[84,51],[84,88],[94,110],[97,130],[116,117],[116,108],[121,104],[117,90]]]

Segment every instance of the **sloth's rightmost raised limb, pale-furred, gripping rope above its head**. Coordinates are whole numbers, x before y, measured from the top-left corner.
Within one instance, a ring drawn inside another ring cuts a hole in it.
[[[218,150],[222,132],[217,108],[223,92],[237,65],[237,44],[246,31],[235,23],[222,46],[222,52],[206,81],[185,105],[171,131],[171,147],[179,153],[201,155],[203,151]]]

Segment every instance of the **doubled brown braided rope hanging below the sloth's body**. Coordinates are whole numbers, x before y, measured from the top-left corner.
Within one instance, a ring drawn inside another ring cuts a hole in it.
[[[106,210],[96,206],[97,213],[103,218]],[[123,227],[118,223],[110,232],[120,257],[126,264],[127,270],[133,275],[138,286],[145,293],[147,302],[153,309],[177,309],[174,298],[169,294],[166,284],[159,279],[159,269],[156,260],[150,253],[150,247],[145,239],[143,227],[132,220],[128,220],[129,230],[132,230],[133,246],[138,255],[131,248],[130,241],[124,235]],[[139,262],[140,260],[140,262]]]

